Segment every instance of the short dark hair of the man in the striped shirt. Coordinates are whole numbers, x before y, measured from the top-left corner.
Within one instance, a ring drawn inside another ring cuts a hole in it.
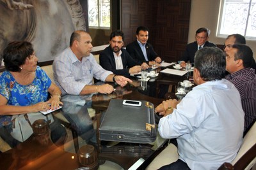
[[[237,49],[237,52],[235,53],[234,56],[234,60],[241,59],[243,60],[243,66],[245,68],[252,67],[254,59],[252,49],[249,46],[242,44],[234,44],[232,45],[232,48]]]

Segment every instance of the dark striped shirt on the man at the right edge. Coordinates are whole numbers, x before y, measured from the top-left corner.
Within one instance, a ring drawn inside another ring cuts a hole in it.
[[[240,93],[244,110],[244,132],[248,131],[256,119],[256,74],[252,68],[245,68],[225,77]]]

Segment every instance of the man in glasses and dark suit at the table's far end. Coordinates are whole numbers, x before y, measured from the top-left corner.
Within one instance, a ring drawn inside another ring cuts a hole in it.
[[[193,43],[189,43],[186,47],[186,51],[180,58],[180,65],[182,67],[186,67],[186,62],[194,63],[195,59],[195,53],[197,50],[200,50],[201,48],[204,48],[205,46],[216,46],[214,43],[210,43],[208,41],[209,35],[210,35],[210,30],[202,27],[198,30],[196,30],[196,41]]]

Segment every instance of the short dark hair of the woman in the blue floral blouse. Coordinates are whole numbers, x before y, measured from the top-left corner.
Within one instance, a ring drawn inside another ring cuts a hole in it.
[[[34,52],[33,46],[28,41],[13,41],[3,51],[4,66],[7,71],[19,72],[20,66],[26,58]]]

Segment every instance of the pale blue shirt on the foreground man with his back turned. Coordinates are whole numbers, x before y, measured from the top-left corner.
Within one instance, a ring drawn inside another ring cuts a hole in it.
[[[198,85],[161,118],[163,138],[177,138],[179,159],[191,169],[218,169],[232,162],[243,139],[244,111],[236,87],[227,80]]]

